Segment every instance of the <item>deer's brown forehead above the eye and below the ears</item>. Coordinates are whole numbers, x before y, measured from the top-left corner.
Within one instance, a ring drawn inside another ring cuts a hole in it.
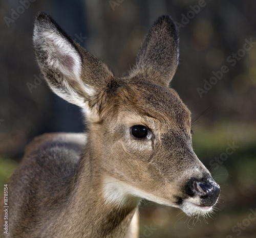
[[[109,110],[113,122],[127,127],[145,125],[152,130],[173,127],[190,131],[190,111],[175,90],[151,83],[132,83],[119,87]]]

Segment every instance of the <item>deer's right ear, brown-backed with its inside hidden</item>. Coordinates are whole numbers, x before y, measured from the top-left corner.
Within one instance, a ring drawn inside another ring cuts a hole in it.
[[[148,30],[131,77],[142,77],[168,87],[178,66],[178,32],[170,16],[160,16]]]

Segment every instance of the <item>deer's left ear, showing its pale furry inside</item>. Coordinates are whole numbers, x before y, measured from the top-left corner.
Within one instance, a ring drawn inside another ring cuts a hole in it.
[[[68,36],[46,13],[34,25],[36,58],[50,88],[61,98],[88,110],[88,101],[114,76],[103,62]]]

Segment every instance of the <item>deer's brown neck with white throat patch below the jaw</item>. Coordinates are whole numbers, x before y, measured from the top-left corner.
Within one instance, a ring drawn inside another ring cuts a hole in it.
[[[115,184],[114,178],[100,170],[98,159],[90,157],[90,147],[85,151],[73,178],[74,193],[69,205],[72,234],[123,237],[140,199],[129,197],[118,187],[118,181]]]

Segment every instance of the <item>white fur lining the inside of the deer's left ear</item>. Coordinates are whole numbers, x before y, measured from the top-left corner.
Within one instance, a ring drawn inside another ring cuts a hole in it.
[[[84,98],[78,96],[76,91],[70,86],[69,81],[75,81],[80,89],[84,91],[84,94],[89,97],[94,96],[96,92],[92,86],[82,81],[81,58],[72,44],[58,33],[56,29],[43,29],[42,31],[38,26],[35,27],[34,42],[47,52],[46,62],[48,67],[62,74],[61,84],[65,85],[65,89],[61,90],[50,83],[50,87],[53,91],[59,97],[72,104],[82,108],[87,107],[88,105],[84,102]],[[69,93],[67,93],[66,90]],[[90,109],[86,108],[86,111],[89,112]]]

